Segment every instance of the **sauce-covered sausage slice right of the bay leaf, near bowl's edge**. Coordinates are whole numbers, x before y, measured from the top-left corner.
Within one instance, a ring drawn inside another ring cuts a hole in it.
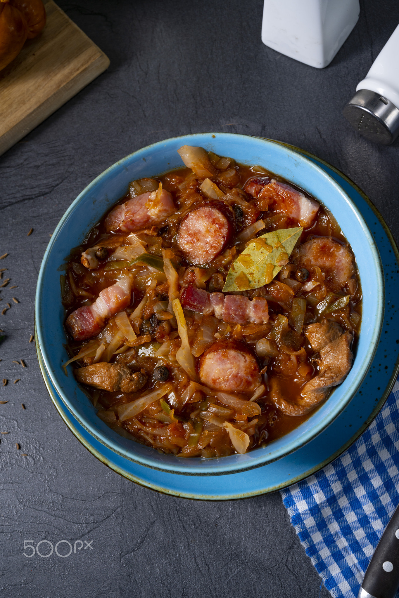
[[[297,266],[309,270],[318,266],[325,274],[325,285],[329,291],[340,291],[354,275],[354,259],[345,245],[330,237],[316,237],[300,245],[293,252]]]

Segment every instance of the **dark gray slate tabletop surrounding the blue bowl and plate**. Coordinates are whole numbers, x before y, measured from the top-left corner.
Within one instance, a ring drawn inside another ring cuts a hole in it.
[[[0,157],[0,255],[9,254],[0,268],[11,277],[0,311],[20,301],[0,316],[0,380],[9,380],[0,382],[9,401],[0,405],[0,431],[9,432],[0,436],[0,588],[10,598],[317,598],[321,580],[280,495],[163,496],[81,446],[28,343],[36,277],[50,233],[95,176],[135,149],[192,132],[263,135],[317,154],[366,191],[398,238],[399,146],[360,138],[341,111],[397,25],[399,4],[363,0],[357,26],[322,71],[261,43],[261,0],[59,4],[111,66]],[[13,363],[21,358],[26,369]],[[23,556],[24,540],[44,539],[93,540],[93,548],[65,559]]]

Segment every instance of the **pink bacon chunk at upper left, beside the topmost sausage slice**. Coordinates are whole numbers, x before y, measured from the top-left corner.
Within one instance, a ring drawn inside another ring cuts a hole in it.
[[[167,216],[175,212],[169,191],[159,189],[142,193],[117,206],[105,219],[107,231],[121,230],[125,233],[163,224]]]

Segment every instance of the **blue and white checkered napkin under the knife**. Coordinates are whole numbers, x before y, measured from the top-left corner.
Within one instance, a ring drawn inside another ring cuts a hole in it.
[[[306,554],[334,598],[355,598],[399,502],[399,383],[339,459],[282,491]],[[398,596],[398,594],[396,594]]]

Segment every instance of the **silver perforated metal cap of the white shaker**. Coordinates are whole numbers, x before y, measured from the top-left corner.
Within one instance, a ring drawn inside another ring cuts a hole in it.
[[[392,144],[399,135],[399,109],[374,91],[357,91],[343,115],[360,135],[376,144]]]

